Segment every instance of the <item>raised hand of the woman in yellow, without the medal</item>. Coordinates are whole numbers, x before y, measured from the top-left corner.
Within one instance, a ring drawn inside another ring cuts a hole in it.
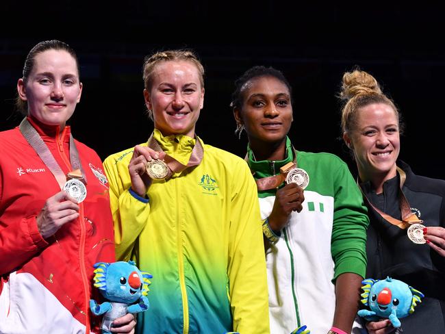
[[[128,171],[131,179],[131,189],[141,197],[144,197],[151,185],[151,178],[147,175],[147,162],[153,159],[164,159],[165,152],[156,152],[148,146],[136,145],[133,150],[133,156],[128,165]]]

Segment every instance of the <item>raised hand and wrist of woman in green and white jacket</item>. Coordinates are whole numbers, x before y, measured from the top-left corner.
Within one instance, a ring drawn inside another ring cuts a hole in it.
[[[281,231],[288,222],[290,213],[292,211],[300,212],[303,209],[303,205],[301,205],[303,201],[305,201],[303,189],[296,183],[286,184],[277,190],[275,203],[268,218],[270,228],[273,231]]]

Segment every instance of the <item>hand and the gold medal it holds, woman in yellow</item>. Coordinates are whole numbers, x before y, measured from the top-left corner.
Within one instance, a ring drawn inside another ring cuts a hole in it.
[[[164,152],[154,151],[148,146],[135,146],[128,165],[133,192],[144,197],[153,179],[164,179],[168,175],[168,167],[162,161],[164,157]]]

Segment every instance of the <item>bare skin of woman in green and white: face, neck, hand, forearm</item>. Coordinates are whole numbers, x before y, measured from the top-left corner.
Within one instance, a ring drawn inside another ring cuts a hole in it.
[[[287,86],[275,77],[255,77],[244,86],[242,107],[233,110],[233,114],[236,121],[244,125],[255,158],[285,159],[285,137],[293,120]],[[300,212],[303,209],[304,199],[303,189],[295,183],[277,190],[268,217],[270,227],[274,231],[283,229],[292,211]],[[266,241],[265,246],[268,246]],[[351,333],[358,311],[361,281],[362,277],[357,274],[344,273],[335,283],[337,299],[333,326],[346,333]]]

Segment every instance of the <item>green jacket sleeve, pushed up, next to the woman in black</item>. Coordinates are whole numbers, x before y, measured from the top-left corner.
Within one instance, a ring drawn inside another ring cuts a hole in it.
[[[348,166],[341,162],[334,176],[335,198],[331,253],[334,278],[345,272],[366,274],[366,229],[369,219],[361,192]]]

